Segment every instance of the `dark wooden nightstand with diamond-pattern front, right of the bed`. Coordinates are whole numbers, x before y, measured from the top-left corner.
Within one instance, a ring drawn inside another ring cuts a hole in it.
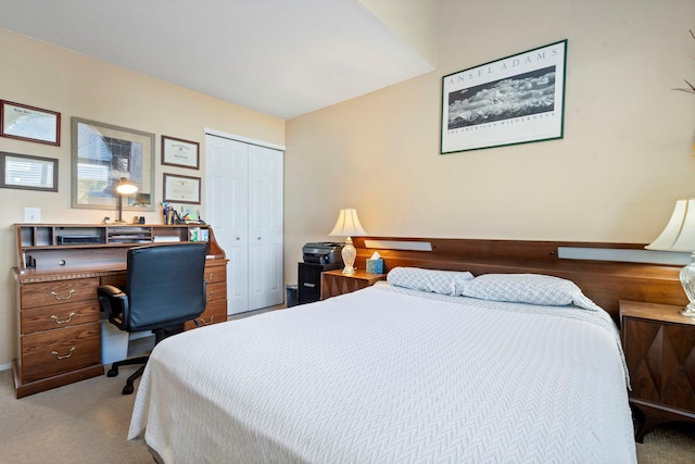
[[[666,422],[695,422],[695,318],[681,306],[620,301],[622,349],[630,372],[630,404],[644,414],[635,434]]]

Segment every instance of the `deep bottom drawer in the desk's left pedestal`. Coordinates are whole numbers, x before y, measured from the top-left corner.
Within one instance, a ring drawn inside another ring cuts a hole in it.
[[[97,322],[20,337],[23,383],[100,364],[100,329]]]

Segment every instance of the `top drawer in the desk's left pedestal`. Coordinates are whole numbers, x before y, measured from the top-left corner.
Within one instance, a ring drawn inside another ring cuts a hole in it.
[[[22,309],[94,300],[98,287],[97,277],[21,285]]]

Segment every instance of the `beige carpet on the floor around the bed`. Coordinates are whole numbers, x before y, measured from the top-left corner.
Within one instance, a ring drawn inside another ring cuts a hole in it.
[[[135,394],[121,389],[134,369],[21,400],[14,398],[12,372],[0,372],[0,462],[152,464],[146,447],[126,441]],[[637,457],[640,464],[695,463],[695,424],[647,434]]]

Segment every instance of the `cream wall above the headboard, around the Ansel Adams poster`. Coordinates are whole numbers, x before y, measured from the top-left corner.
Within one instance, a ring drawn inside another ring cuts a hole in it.
[[[286,278],[356,208],[374,236],[646,243],[695,196],[695,2],[439,1],[438,70],[288,122]],[[568,39],[560,140],[440,153],[441,78]],[[691,80],[692,81],[692,80]]]

